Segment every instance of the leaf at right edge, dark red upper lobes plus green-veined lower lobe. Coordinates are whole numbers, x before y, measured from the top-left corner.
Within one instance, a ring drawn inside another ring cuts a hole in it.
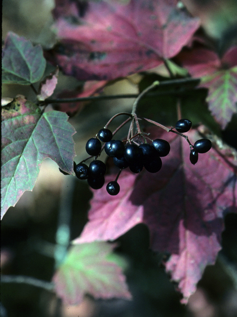
[[[208,108],[225,129],[237,113],[237,46],[230,48],[222,58],[205,48],[184,51],[179,62],[194,77],[201,77],[200,86],[208,89]]]

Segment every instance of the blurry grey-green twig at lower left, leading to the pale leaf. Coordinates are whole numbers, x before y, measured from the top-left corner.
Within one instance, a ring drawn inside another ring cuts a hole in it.
[[[47,291],[54,290],[52,282],[42,281],[35,277],[23,275],[1,275],[1,283],[25,283],[36,287],[41,287]]]

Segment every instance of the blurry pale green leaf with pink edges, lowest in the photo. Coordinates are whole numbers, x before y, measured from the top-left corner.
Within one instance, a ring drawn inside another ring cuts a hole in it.
[[[55,290],[65,304],[79,304],[85,294],[94,298],[131,299],[125,276],[112,255],[114,246],[92,242],[72,246],[53,276]]]

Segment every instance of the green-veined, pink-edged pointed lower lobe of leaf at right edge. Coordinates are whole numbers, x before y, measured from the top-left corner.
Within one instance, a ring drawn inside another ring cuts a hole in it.
[[[237,112],[237,67],[202,77],[201,86],[209,88],[206,99],[208,108],[222,129],[225,129]]]

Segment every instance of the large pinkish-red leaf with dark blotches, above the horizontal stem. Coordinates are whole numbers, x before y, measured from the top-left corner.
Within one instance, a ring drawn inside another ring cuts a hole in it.
[[[60,41],[45,53],[79,80],[110,80],[158,66],[180,52],[199,26],[176,0],[56,0]]]

